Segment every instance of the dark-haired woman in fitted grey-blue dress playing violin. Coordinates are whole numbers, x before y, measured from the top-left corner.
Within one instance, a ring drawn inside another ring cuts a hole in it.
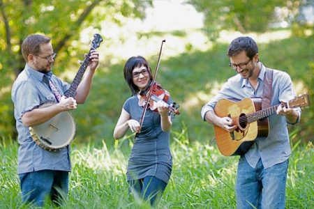
[[[132,56],[126,61],[124,79],[132,96],[124,102],[114,139],[124,137],[128,128],[136,133],[127,181],[130,193],[154,206],[160,201],[172,172],[170,129],[172,115],[179,111],[172,105],[169,93],[154,82],[144,57]]]

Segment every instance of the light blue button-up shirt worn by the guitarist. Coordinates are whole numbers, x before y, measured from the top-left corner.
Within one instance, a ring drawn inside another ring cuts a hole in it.
[[[228,79],[219,93],[202,107],[201,114],[203,120],[207,111],[214,111],[215,104],[220,99],[242,100],[244,98],[253,97],[262,98],[265,72],[266,68],[262,65],[260,75],[257,79],[256,90],[251,86],[248,79],[243,79],[239,74]],[[290,76],[286,72],[274,70],[271,106],[280,104],[281,100],[292,100],[294,95],[294,88]],[[297,108],[297,111],[299,113],[297,123],[299,123],[301,109]],[[255,144],[248,150],[245,157],[253,168],[261,158],[264,168],[267,169],[274,164],[284,162],[290,155],[291,148],[285,116],[273,114],[269,116],[268,137],[266,139],[264,137],[257,137]]]

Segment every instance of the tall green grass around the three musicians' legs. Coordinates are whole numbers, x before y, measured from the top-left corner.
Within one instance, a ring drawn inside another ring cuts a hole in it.
[[[8,140],[7,140],[8,141]],[[128,196],[126,164],[132,142],[105,141],[76,146],[71,154],[70,192],[61,208],[150,208]],[[32,208],[21,201],[17,177],[17,144],[0,145],[0,208]],[[223,157],[214,145],[193,142],[188,133],[172,132],[174,167],[157,208],[235,208],[234,183],[239,157]],[[287,178],[286,208],[314,207],[313,144],[292,144]],[[45,208],[55,208],[46,203]]]

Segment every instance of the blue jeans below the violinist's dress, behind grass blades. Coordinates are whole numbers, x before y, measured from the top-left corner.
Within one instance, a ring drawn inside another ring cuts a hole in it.
[[[151,206],[156,206],[160,201],[167,183],[155,176],[145,176],[142,179],[129,180],[130,193],[140,196],[145,201],[149,200]]]

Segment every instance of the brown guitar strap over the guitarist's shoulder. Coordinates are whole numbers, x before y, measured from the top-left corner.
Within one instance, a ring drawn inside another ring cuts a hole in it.
[[[273,70],[266,68],[266,73],[264,77],[264,89],[262,98],[262,109],[271,107],[271,85],[273,83]]]

